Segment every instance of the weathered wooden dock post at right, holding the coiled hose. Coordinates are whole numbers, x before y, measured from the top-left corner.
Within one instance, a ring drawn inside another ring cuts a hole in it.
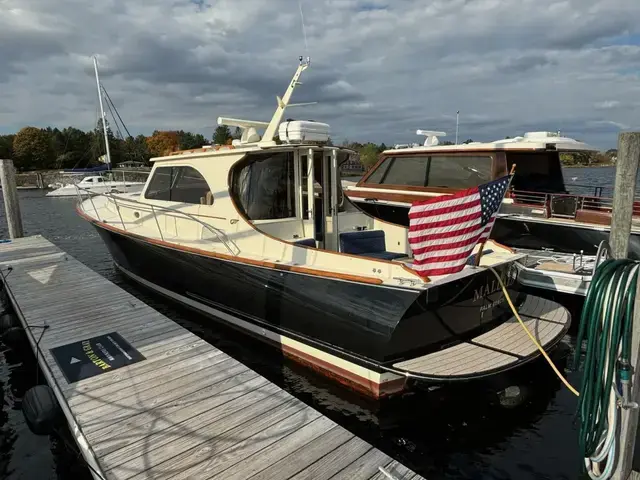
[[[609,243],[614,258],[627,258],[636,178],[640,164],[640,132],[625,132],[618,136],[618,161],[613,197],[611,234]],[[631,400],[640,403],[640,285],[636,291],[631,334]],[[620,414],[620,448],[618,449],[613,480],[640,479],[632,471],[633,454],[638,428],[638,409],[623,408]]]

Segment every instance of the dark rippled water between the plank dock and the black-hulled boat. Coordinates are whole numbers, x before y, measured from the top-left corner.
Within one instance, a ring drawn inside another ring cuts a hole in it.
[[[44,235],[429,480],[577,477],[576,401],[544,363],[535,362],[491,381],[420,390],[383,404],[369,402],[283,359],[271,347],[126,281],[114,271],[97,233],[75,214],[73,199],[45,198],[37,191],[20,192],[20,198],[27,235]],[[0,237],[6,237],[4,222]],[[560,366],[572,342],[567,337],[555,353]],[[25,350],[0,344],[0,478],[89,478],[63,442],[35,437],[24,424],[20,399],[36,382],[35,359]],[[569,378],[578,384],[577,375]],[[508,385],[520,386],[522,404],[500,404],[496,391]]]

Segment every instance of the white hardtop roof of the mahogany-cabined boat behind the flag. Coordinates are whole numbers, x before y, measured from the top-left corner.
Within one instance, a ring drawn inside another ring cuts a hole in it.
[[[493,142],[470,142],[459,145],[440,145],[439,136],[444,136],[443,132],[429,130],[418,130],[418,135],[426,135],[424,145],[412,146],[408,148],[393,148],[385,150],[383,153],[395,152],[421,152],[437,150],[439,152],[464,152],[476,150],[557,150],[561,152],[597,152],[598,149],[584,142],[573,138],[563,137],[556,132],[527,132],[522,136],[505,138]]]

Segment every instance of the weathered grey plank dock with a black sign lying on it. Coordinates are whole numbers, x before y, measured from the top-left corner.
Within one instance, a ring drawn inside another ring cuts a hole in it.
[[[43,237],[1,243],[0,271],[95,478],[422,478]]]

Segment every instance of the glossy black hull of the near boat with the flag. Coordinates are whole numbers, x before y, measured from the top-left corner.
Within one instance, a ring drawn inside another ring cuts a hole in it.
[[[429,290],[394,288],[201,255],[94,225],[134,280],[376,398],[406,387],[406,377],[388,368],[394,362],[510,317],[489,272]],[[523,301],[518,292],[511,295],[516,304]]]

